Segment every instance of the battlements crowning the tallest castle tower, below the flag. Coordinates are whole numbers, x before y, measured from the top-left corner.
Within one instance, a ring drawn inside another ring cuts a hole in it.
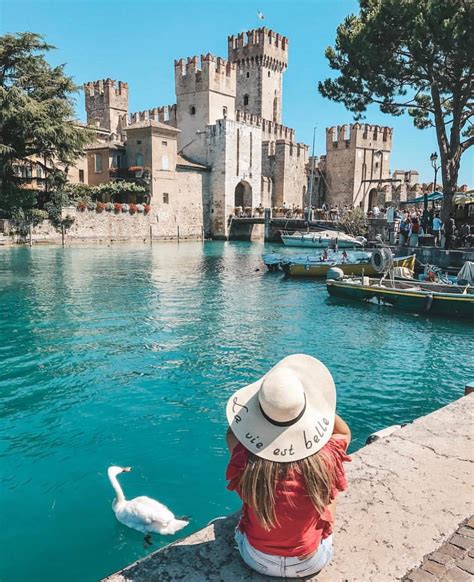
[[[288,39],[268,28],[257,28],[227,37],[228,58],[238,65],[257,60],[279,70],[288,65]]]

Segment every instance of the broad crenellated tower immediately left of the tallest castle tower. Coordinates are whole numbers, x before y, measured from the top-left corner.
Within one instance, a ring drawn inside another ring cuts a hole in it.
[[[176,60],[178,151],[196,152],[199,133],[218,119],[235,119],[236,68],[211,54]],[[200,156],[196,159],[199,159]]]

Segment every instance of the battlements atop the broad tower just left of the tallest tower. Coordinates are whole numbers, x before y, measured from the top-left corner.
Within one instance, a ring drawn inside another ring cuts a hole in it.
[[[207,53],[174,62],[176,94],[216,91],[235,95],[236,67],[221,57]]]

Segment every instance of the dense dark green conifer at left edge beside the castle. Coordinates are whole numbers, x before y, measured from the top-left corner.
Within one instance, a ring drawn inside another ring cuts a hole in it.
[[[9,216],[27,216],[36,205],[25,193],[36,169],[44,188],[54,191],[92,139],[73,122],[78,88],[64,65],[53,67],[45,59],[53,48],[31,32],[0,37],[0,209]]]

